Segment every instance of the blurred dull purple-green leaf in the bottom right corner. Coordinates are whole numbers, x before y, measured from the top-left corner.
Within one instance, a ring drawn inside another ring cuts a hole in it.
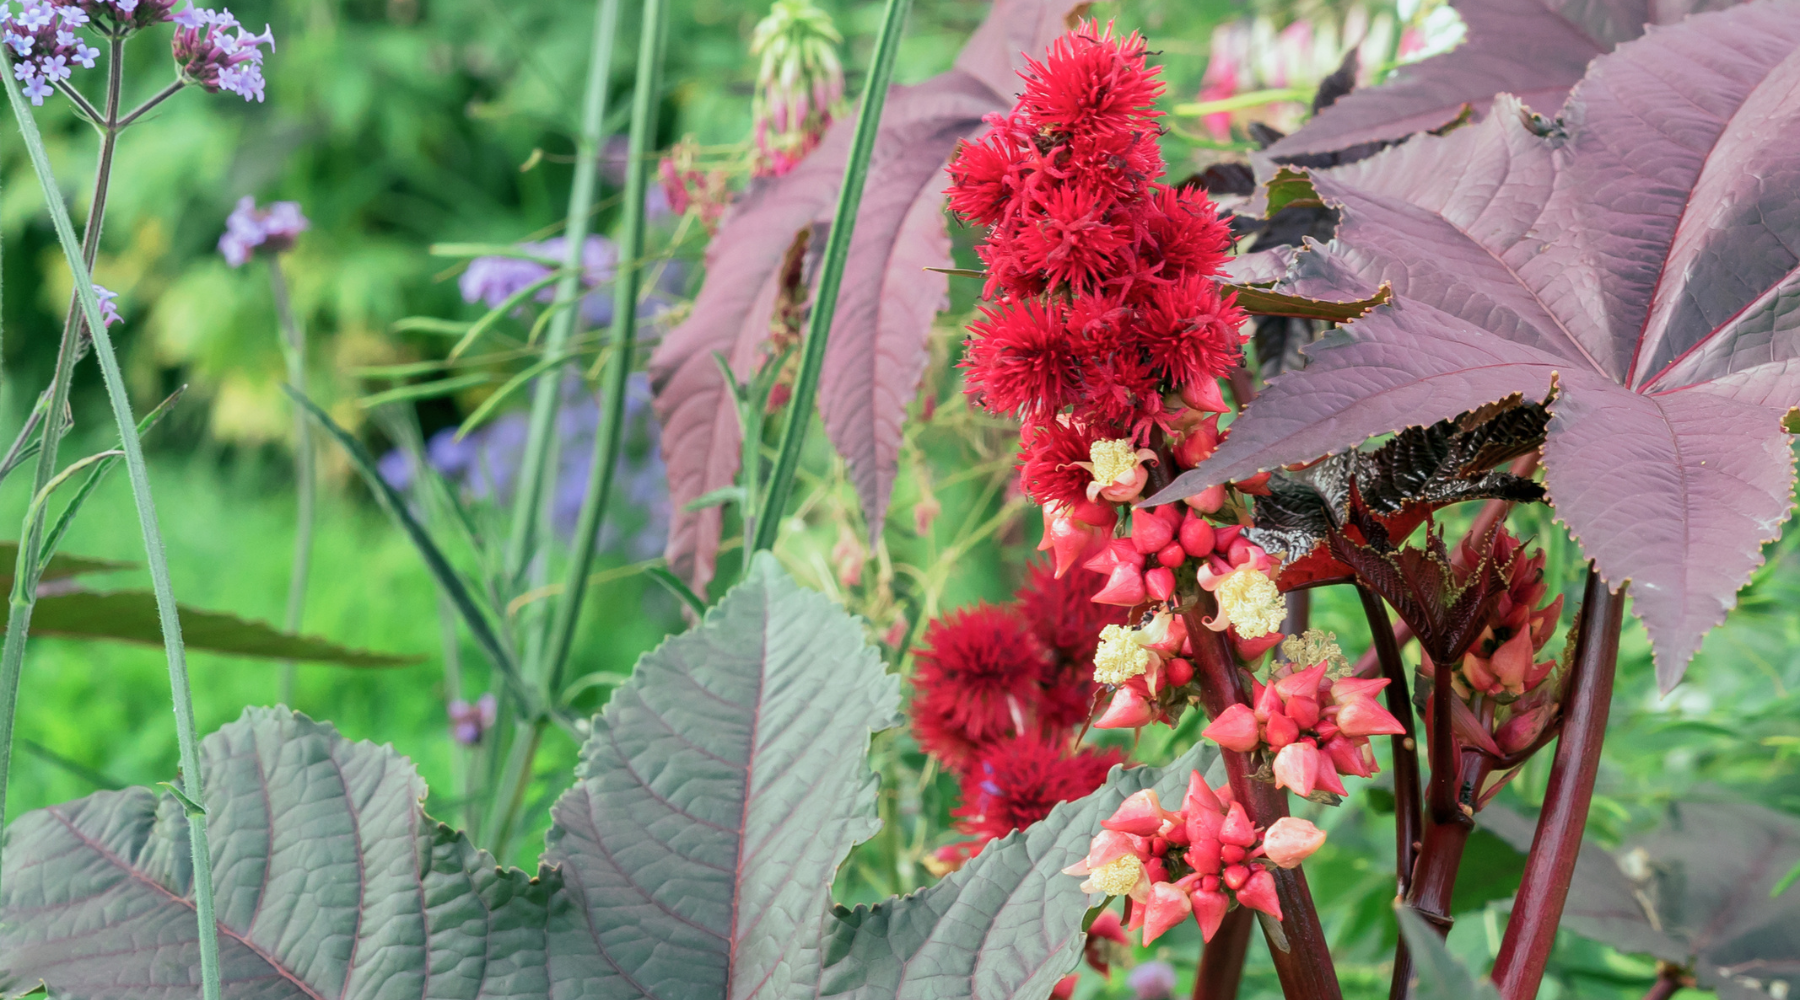
[[[1514,847],[1534,824],[1481,813]],[[1663,824],[1607,853],[1586,842],[1562,926],[1620,951],[1694,971],[1726,1000],[1768,998],[1764,984],[1800,978],[1800,892],[1769,897],[1800,863],[1800,820],[1748,802],[1672,802]]]

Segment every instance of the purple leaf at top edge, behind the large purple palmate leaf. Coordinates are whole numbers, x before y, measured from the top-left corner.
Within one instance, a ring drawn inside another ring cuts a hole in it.
[[[1444,128],[1465,108],[1485,115],[1501,92],[1534,108],[1555,108],[1595,56],[1638,38],[1651,25],[1676,23],[1694,11],[1717,11],[1735,2],[1462,0],[1453,7],[1469,34],[1453,52],[1400,67],[1381,86],[1339,97],[1267,155],[1276,162],[1307,162],[1364,142],[1400,140]]]

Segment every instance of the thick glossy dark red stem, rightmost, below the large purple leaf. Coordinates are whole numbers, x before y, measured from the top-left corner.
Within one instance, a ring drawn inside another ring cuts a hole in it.
[[[1503,1000],[1537,996],[1544,962],[1557,941],[1575,854],[1588,827],[1593,779],[1600,770],[1600,743],[1606,739],[1613,669],[1618,665],[1618,629],[1624,621],[1625,588],[1609,592],[1589,565],[1582,628],[1575,638],[1575,667],[1562,701],[1562,736],[1557,737],[1544,809],[1537,817],[1532,853],[1525,858],[1525,878],[1514,897],[1512,919],[1494,959],[1494,986]]]

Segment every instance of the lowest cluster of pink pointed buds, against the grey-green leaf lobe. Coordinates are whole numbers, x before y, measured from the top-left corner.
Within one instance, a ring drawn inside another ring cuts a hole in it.
[[[1129,896],[1129,926],[1143,930],[1147,946],[1190,915],[1211,941],[1233,905],[1282,919],[1269,869],[1292,869],[1325,844],[1325,831],[1294,817],[1253,826],[1231,790],[1210,788],[1201,772],[1179,811],[1145,790],[1100,826],[1087,856],[1064,874],[1084,878],[1084,892]]]

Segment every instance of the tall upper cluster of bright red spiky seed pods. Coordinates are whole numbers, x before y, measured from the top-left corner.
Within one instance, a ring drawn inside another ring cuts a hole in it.
[[[1170,430],[1170,394],[1237,365],[1244,313],[1211,281],[1229,245],[1217,207],[1157,183],[1163,85],[1143,40],[1084,23],[1022,76],[1013,112],[950,162],[950,209],[990,227],[963,365],[985,408],[1026,421],[1031,496],[1080,504],[1093,477],[1073,462]]]

